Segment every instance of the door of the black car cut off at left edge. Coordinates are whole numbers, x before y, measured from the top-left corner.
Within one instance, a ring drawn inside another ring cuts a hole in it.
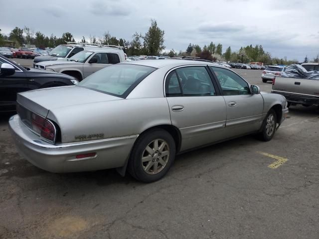
[[[2,111],[15,105],[17,93],[29,90],[25,73],[10,62],[0,58],[0,66],[3,63],[12,65],[15,68],[15,73],[11,76],[1,76],[0,74],[0,106]]]

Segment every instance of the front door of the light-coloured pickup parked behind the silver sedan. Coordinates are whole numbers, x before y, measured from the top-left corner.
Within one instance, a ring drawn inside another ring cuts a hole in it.
[[[89,63],[91,59],[97,59],[96,63]],[[111,65],[108,59],[108,53],[106,52],[98,52],[89,57],[86,62],[83,64],[83,74],[84,78],[89,75],[101,70],[104,67]]]

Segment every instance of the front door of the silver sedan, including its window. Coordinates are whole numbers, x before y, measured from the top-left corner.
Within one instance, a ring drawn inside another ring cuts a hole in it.
[[[249,84],[231,70],[211,66],[226,102],[227,135],[237,136],[258,130],[263,122],[264,99],[251,94]]]

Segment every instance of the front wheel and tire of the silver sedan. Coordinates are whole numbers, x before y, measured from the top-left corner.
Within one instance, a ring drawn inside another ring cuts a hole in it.
[[[271,140],[276,132],[277,128],[277,115],[273,109],[270,109],[262,125],[262,131],[258,134],[258,137],[263,141]]]

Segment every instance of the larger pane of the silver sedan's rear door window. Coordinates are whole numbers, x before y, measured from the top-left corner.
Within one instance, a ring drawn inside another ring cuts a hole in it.
[[[175,70],[183,96],[215,96],[216,91],[204,66],[182,67]]]

